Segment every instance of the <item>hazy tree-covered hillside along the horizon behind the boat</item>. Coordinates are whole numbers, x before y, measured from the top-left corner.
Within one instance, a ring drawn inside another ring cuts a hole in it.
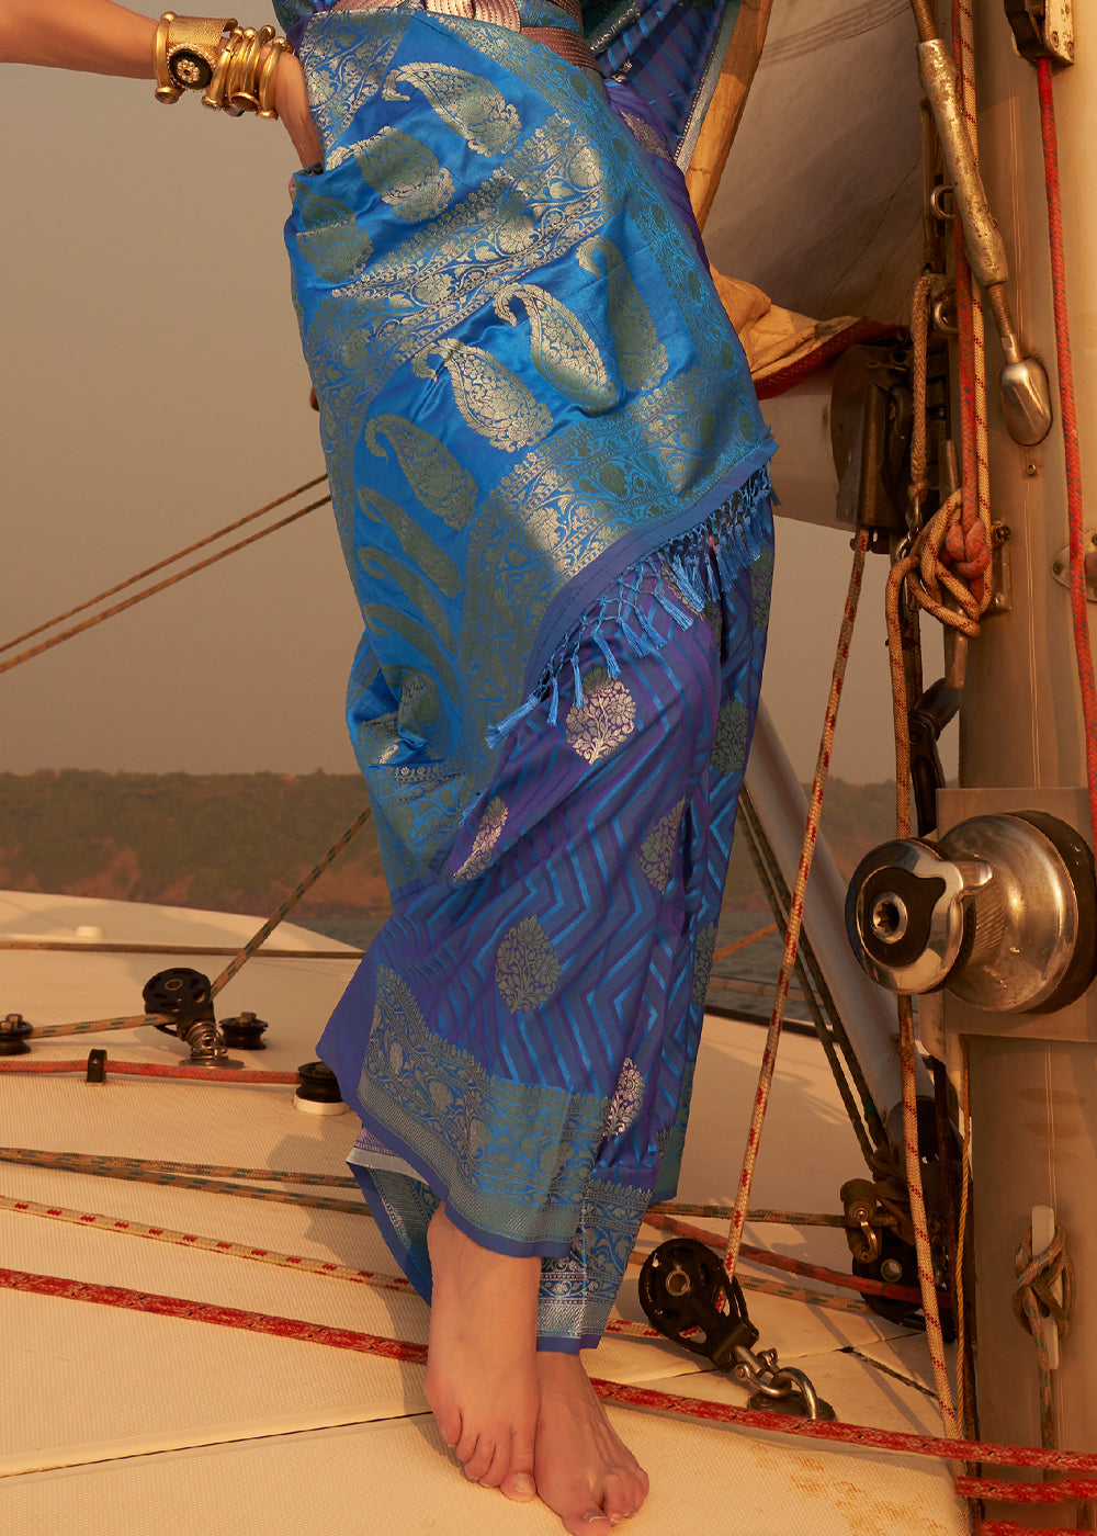
[[[890,785],[831,780],[824,834],[843,874],[893,836]],[[0,774],[0,889],[267,912],[366,800],[356,774]],[[745,843],[725,906],[762,908]],[[372,828],[340,854],[303,920],[387,906]]]

